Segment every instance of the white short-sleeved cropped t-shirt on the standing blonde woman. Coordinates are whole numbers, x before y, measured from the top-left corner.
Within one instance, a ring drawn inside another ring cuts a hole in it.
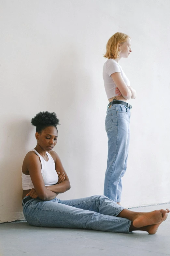
[[[108,59],[103,66],[103,80],[107,98],[110,99],[118,94],[115,93],[116,84],[113,82],[111,75],[120,72],[121,76],[127,86],[130,86],[130,81],[123,72],[121,66],[116,60]]]

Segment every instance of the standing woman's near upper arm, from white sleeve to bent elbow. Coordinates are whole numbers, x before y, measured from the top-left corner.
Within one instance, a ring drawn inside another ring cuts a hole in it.
[[[125,84],[121,73],[120,72],[115,72],[111,75],[114,83],[116,84],[116,86],[118,87],[120,93],[122,94],[122,96],[125,99],[131,99],[132,97],[132,92],[131,90],[128,88],[128,86]]]

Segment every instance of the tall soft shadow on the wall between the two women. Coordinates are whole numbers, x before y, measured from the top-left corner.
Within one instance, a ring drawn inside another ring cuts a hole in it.
[[[86,100],[92,97],[92,82],[76,47],[66,47],[70,51],[60,49],[56,59],[57,67],[53,70],[48,87],[51,92],[49,105],[54,106],[50,110],[56,112],[61,124],[55,150],[62,159],[71,186],[75,184],[69,193],[72,197],[80,197],[85,196],[88,189],[88,161],[91,156],[87,141],[86,126],[90,127],[90,124],[86,120]]]

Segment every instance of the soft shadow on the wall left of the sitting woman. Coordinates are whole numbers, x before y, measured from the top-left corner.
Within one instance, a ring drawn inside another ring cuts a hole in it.
[[[28,120],[17,120],[4,124],[4,141],[1,145],[3,154],[0,162],[1,173],[1,205],[0,215],[11,221],[22,212],[22,183],[21,167],[23,159],[28,152],[29,135],[31,133]],[[0,216],[1,217],[1,216]],[[1,218],[0,218],[1,219]],[[5,220],[5,221],[6,221]],[[1,219],[3,222],[3,219]]]

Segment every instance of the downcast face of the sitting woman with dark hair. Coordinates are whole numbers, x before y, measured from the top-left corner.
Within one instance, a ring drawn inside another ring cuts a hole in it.
[[[44,151],[50,152],[57,143],[58,132],[54,126],[48,126],[41,133],[36,132],[35,138]]]

